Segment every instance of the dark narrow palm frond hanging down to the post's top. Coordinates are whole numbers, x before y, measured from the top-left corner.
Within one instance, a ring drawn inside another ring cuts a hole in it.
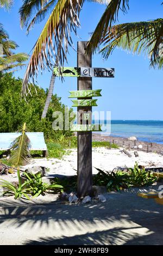
[[[113,22],[116,22],[118,19],[118,13],[120,10],[123,13],[127,13],[129,9],[128,5],[129,0],[111,0],[108,4],[108,7],[104,11],[104,14],[101,17],[95,31],[93,32],[89,44],[87,45],[87,53],[95,53],[99,46],[99,42],[102,36],[105,36],[108,27],[112,26]]]

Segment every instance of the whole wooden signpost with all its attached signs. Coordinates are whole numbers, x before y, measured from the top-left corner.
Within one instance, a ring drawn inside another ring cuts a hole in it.
[[[92,55],[85,54],[87,42],[78,42],[77,67],[54,68],[54,76],[78,77],[78,90],[70,91],[73,107],[78,107],[77,124],[70,127],[77,131],[78,141],[78,197],[92,196],[92,131],[101,131],[101,126],[92,124],[92,106],[97,106],[92,97],[101,96],[101,89],[92,90],[92,77],[113,78],[114,68],[92,68]]]

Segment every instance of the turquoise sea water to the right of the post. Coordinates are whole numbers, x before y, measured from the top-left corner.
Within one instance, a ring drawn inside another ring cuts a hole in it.
[[[111,120],[110,136],[163,144],[163,121],[160,120]]]

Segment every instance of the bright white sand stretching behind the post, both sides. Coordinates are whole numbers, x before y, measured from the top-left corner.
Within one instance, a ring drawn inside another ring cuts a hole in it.
[[[30,164],[23,169],[33,166],[45,166],[49,168],[48,174],[75,175],[77,169],[77,149],[71,150],[70,155],[65,155],[63,160],[59,159],[32,159]],[[132,157],[128,157],[122,152],[122,149],[92,149],[92,166],[93,174],[97,173],[97,168],[112,170],[116,167],[133,167],[135,161],[143,166],[150,166],[153,162],[157,167],[163,167],[163,156],[155,153],[145,153],[139,151],[139,157],[135,157],[134,151],[131,150]]]

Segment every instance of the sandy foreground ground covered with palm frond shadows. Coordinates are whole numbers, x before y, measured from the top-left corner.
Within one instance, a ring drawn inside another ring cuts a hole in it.
[[[105,203],[79,205],[20,207],[8,200],[0,208],[0,231],[14,230],[15,241],[16,234],[25,234],[15,242],[23,245],[162,245],[162,214],[162,205],[137,197],[136,191],[108,194]]]

